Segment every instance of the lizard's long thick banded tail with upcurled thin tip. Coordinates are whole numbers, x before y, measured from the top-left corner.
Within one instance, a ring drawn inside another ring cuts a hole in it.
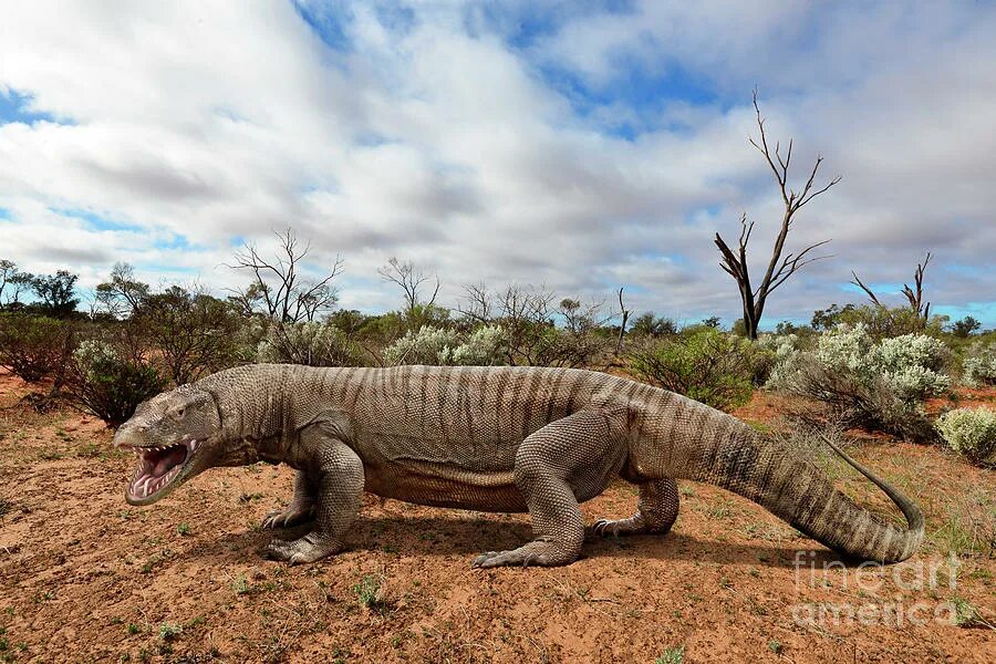
[[[920,548],[923,515],[916,505],[830,440],[827,444],[837,454],[895,502],[907,528],[859,507],[833,488],[812,461],[778,440],[761,438],[735,417],[692,402],[685,402],[682,409],[677,423],[666,422],[661,414],[644,414],[645,425],[656,424],[652,428],[657,429],[655,440],[637,444],[641,466],[652,476],[706,481],[734,491],[853,558],[899,562]]]

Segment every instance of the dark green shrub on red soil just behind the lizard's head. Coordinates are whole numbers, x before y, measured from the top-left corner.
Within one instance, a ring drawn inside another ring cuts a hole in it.
[[[165,387],[154,366],[123,359],[111,344],[89,340],[73,353],[71,398],[111,427],[128,419],[143,401]]]

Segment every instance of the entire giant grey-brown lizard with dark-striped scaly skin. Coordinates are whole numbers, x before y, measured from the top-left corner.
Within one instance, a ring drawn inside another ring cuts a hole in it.
[[[364,490],[419,505],[529,511],[533,541],[483,553],[474,567],[567,564],[584,540],[579,504],[616,476],[640,486],[639,510],[599,521],[596,535],[667,532],[678,511],[675,480],[684,478],[745,496],[854,558],[903,560],[923,538],[916,507],[840,450],[896,502],[907,529],[858,507],[808,460],[734,417],[578,370],[243,366],[143,404],[115,444],[141,457],[126,492],[134,505],[214,466],[297,468],[292,500],[263,521],[280,528],[313,517],[308,535],[267,549],[292,564],[342,548]]]

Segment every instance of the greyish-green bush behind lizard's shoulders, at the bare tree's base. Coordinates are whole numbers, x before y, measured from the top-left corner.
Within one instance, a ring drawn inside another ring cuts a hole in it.
[[[359,346],[328,323],[273,323],[257,347],[257,362],[354,366],[363,363]]]

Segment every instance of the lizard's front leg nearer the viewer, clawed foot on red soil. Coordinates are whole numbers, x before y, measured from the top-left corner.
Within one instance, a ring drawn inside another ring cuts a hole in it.
[[[301,432],[301,443],[314,449],[318,465],[314,528],[292,541],[273,540],[266,551],[269,558],[290,564],[314,562],[339,551],[363,494],[363,461],[347,445],[323,434],[320,426]]]

